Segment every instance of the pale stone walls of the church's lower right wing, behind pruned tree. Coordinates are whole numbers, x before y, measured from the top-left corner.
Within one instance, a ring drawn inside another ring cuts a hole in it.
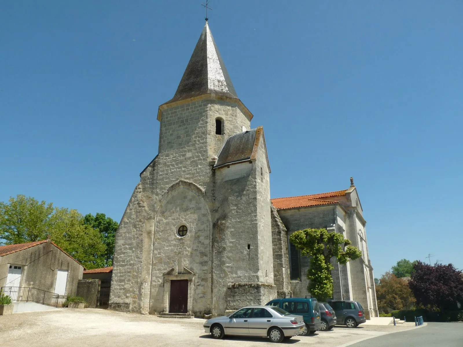
[[[338,195],[323,197],[323,201],[331,202],[330,204],[282,208],[278,213],[288,229],[288,236],[301,229],[325,228],[331,232],[342,233],[344,238],[349,239],[352,245],[362,252],[360,259],[350,261],[346,265],[332,260],[333,298],[359,301],[365,309],[366,316],[378,316],[373,267],[366,243],[366,221],[363,219],[357,189],[352,184],[350,189],[343,193],[335,193]],[[299,261],[300,273],[292,274],[291,290],[294,296],[304,297],[310,295],[307,291],[306,277],[310,260],[296,252],[298,256],[292,257],[289,254],[289,259]]]

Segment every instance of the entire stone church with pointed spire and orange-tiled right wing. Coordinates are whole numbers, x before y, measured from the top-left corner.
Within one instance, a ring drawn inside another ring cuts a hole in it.
[[[377,315],[357,190],[270,200],[263,127],[238,99],[206,22],[172,99],[159,106],[159,150],[116,233],[110,308],[219,315],[305,296],[308,260],[288,235],[343,233],[362,259],[332,272],[334,298]],[[334,264],[334,263],[333,263]]]

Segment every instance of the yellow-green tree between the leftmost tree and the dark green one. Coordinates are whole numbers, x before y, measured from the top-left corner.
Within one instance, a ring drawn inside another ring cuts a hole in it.
[[[63,248],[87,269],[105,266],[106,245],[98,230],[83,223],[76,210],[56,208],[50,218],[51,241]]]

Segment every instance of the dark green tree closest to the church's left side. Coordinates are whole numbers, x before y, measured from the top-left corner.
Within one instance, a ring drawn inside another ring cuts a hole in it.
[[[95,216],[91,213],[85,215],[84,224],[98,230],[106,245],[105,266],[113,265],[114,254],[114,236],[119,227],[119,223],[110,217],[106,217],[104,213],[97,213]]]

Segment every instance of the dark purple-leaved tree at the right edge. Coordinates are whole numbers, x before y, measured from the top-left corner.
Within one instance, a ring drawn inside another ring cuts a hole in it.
[[[417,304],[428,308],[456,310],[463,302],[463,275],[452,264],[434,266],[418,261],[408,282]]]

